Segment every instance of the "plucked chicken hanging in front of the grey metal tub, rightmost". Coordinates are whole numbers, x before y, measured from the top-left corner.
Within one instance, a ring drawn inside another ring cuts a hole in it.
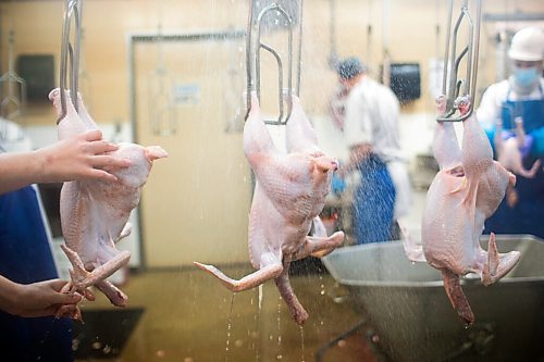
[[[436,105],[438,113],[444,114],[445,98],[440,97]],[[468,100],[460,101],[461,114],[467,113],[468,105]],[[506,187],[516,183],[516,176],[493,161],[491,145],[474,115],[462,125],[462,148],[459,149],[454,125],[436,124],[433,149],[441,170],[426,195],[422,246],[408,239],[405,250],[410,260],[426,260],[442,272],[452,305],[466,323],[472,324],[474,315],[459,276],[477,273],[484,285],[490,285],[508,273],[520,254],[518,251],[498,253],[493,233],[487,251],[480,247],[485,219],[495,212]]]

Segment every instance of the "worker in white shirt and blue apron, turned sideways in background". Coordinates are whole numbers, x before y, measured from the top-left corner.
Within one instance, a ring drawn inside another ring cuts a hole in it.
[[[356,242],[398,239],[397,219],[408,212],[411,192],[399,145],[399,102],[357,58],[342,61],[338,76],[348,91],[343,133],[350,150],[339,174],[360,173],[354,192]]]

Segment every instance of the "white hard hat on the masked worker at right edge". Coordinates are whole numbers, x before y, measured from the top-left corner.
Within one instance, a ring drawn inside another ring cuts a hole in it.
[[[544,32],[539,27],[526,27],[516,33],[508,57],[527,62],[544,59]]]

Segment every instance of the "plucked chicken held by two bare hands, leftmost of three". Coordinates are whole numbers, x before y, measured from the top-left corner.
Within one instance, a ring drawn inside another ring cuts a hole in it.
[[[67,113],[59,123],[59,139],[97,129],[81,97],[77,113],[67,91],[65,96]],[[49,99],[60,115],[60,89],[53,89]],[[139,202],[152,161],[168,154],[158,146],[144,148],[135,143],[119,143],[119,149],[110,155],[131,162],[126,168],[106,170],[118,178],[116,182],[74,180],[62,186],[60,211],[65,245],[61,248],[74,267],[70,271],[73,290],[94,299],[86,288],[95,285],[114,305],[124,307],[127,297],[106,279],[131,258],[128,251],[119,251],[115,242],[131,233],[128,216]]]

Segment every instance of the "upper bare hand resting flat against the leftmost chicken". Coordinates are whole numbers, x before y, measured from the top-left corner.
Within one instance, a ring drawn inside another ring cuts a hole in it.
[[[102,139],[98,129],[58,141],[36,152],[40,164],[41,182],[66,182],[86,178],[115,182],[111,173],[100,170],[127,167],[131,161],[114,158],[106,152],[119,147]]]

